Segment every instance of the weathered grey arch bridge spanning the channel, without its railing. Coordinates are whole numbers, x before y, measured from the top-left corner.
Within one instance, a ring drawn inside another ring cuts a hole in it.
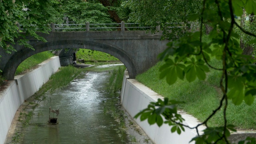
[[[26,58],[48,50],[62,48],[85,48],[111,54],[126,66],[130,78],[145,72],[158,62],[158,54],[166,49],[167,40],[160,40],[161,33],[146,31],[84,31],[84,32],[38,32],[47,42],[41,42],[32,37],[28,43],[35,50],[20,46],[16,41],[17,52],[6,54],[0,49],[0,70],[7,80],[14,80],[14,73],[19,64]]]

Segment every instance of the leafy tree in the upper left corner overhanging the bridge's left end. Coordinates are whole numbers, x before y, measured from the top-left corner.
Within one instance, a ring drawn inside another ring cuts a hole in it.
[[[6,53],[16,51],[11,44],[14,44],[14,38],[22,36],[18,44],[32,48],[26,42],[26,35],[46,42],[36,31],[48,33],[48,24],[54,21],[53,14],[57,13],[57,4],[58,0],[0,0],[0,47]],[[18,33],[17,24],[22,24],[20,28],[22,32],[26,32],[25,35]]]

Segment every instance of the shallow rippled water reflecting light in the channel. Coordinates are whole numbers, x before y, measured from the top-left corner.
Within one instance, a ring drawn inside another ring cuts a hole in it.
[[[81,74],[68,86],[48,94],[34,110],[25,130],[24,144],[125,144],[128,136],[118,122],[104,112],[102,103],[119,94],[109,93],[108,72]],[[106,104],[104,104],[106,105]],[[60,108],[57,125],[47,124],[49,107]]]

